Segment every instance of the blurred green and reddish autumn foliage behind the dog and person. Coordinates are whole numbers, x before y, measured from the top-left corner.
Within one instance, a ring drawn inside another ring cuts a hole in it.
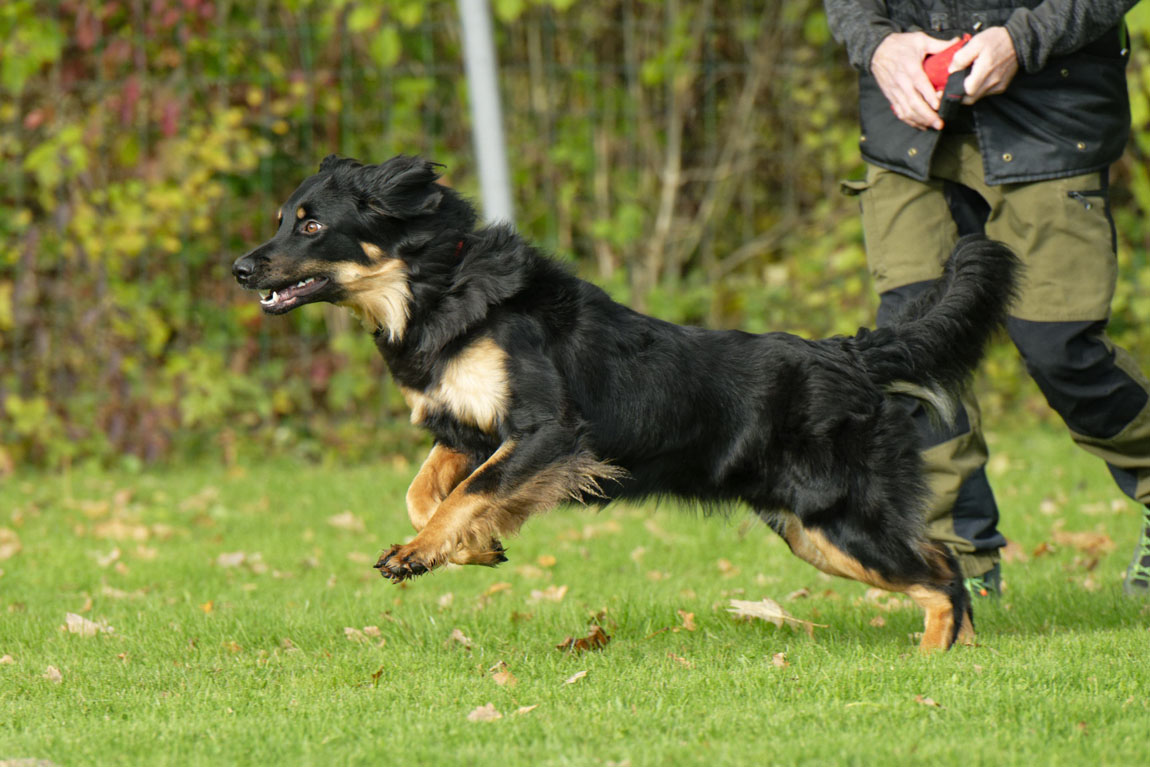
[[[492,0],[520,228],[620,300],[753,331],[872,319],[853,74],[821,2]],[[1114,174],[1113,331],[1150,360],[1150,11]],[[0,474],[23,462],[402,451],[340,309],[264,319],[231,261],[330,152],[477,189],[455,3],[0,6]],[[1013,350],[989,414],[1034,400]]]

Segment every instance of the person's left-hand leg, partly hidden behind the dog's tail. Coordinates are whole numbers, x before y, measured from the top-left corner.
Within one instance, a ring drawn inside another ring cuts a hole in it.
[[[868,167],[861,202],[867,261],[881,297],[881,327],[941,276],[959,230],[943,182],[921,183]],[[964,576],[981,576],[995,567],[1006,542],[997,532],[998,507],[983,470],[987,451],[976,429],[977,404],[965,396],[957,423],[940,429],[918,400],[904,401],[919,424],[933,493],[929,535],[954,551]]]

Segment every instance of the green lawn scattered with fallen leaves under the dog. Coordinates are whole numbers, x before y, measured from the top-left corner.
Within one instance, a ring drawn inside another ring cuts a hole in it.
[[[414,467],[9,478],[0,527],[22,551],[0,561],[0,655],[15,659],[0,666],[0,764],[1147,764],[1150,609],[1121,595],[1134,505],[1112,507],[1104,468],[1063,432],[992,450],[1003,530],[1050,551],[1005,566],[1005,597],[977,605],[979,646],[926,658],[918,609],[881,611],[742,513],[562,509],[499,569],[396,588],[370,565],[409,535]],[[347,511],[363,531],[328,522]],[[1092,569],[1056,543],[1084,530],[1114,544]],[[245,563],[222,566],[235,552]],[[531,598],[560,585],[560,601]],[[762,597],[828,628],[812,639],[726,609]],[[604,608],[604,650],[555,650]],[[82,611],[114,632],[59,628]],[[660,631],[677,611],[695,631]],[[345,635],[373,626],[368,643]],[[515,685],[493,681],[499,661]],[[468,721],[488,703],[503,719]]]

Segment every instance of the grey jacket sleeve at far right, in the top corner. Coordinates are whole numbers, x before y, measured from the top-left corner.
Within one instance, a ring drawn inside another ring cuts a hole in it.
[[[1138,0],[1044,0],[1006,22],[1022,69],[1036,72],[1051,56],[1073,53],[1118,24]],[[829,16],[829,10],[828,14]]]

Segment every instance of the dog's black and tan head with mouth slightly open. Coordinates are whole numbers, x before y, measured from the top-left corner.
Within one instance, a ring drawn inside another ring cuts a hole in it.
[[[329,301],[401,335],[407,275],[421,248],[474,227],[470,206],[436,183],[436,163],[399,155],[377,166],[335,155],[276,213],[275,236],[232,264],[268,314]]]

